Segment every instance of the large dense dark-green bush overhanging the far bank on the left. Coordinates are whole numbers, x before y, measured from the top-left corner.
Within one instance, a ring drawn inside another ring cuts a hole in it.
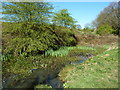
[[[3,23],[3,54],[29,56],[75,44],[74,33],[68,28],[49,24]]]

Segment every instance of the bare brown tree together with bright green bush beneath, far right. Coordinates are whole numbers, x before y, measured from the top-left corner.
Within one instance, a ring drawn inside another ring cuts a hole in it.
[[[112,2],[93,21],[98,34],[116,34],[120,30],[120,2]]]

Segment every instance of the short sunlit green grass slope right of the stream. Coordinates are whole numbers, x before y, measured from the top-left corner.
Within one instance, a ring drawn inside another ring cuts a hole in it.
[[[118,88],[117,49],[106,51],[72,68],[66,76],[64,69],[59,74],[61,80],[66,81],[65,88]]]

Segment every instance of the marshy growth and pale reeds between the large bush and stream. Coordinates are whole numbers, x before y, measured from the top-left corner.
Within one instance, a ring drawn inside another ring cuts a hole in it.
[[[21,76],[29,76],[31,69],[46,68],[56,65],[60,65],[66,62],[78,60],[77,57],[73,57],[73,54],[79,53],[94,53],[103,52],[104,48],[93,48],[89,46],[74,46],[74,47],[62,47],[56,51],[47,51],[46,56],[31,56],[31,57],[11,57],[2,58],[3,62],[3,75],[9,72],[15,74],[21,74]],[[10,60],[8,60],[9,58]],[[7,61],[7,62],[6,62]],[[8,62],[9,61],[9,62]],[[54,62],[54,65],[53,65]]]

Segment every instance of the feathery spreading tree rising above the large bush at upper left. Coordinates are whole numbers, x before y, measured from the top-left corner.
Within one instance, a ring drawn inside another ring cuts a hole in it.
[[[46,2],[2,2],[3,21],[49,22],[52,5]]]

